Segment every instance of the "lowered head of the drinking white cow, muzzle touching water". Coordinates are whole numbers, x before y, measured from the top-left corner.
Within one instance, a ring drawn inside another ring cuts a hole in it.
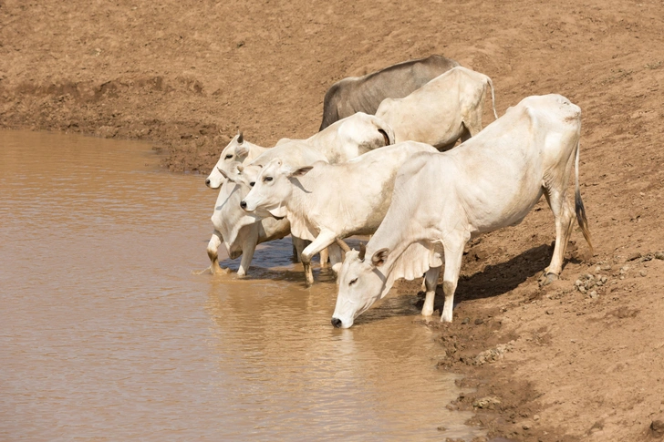
[[[332,325],[337,328],[353,325],[355,318],[380,299],[385,288],[386,277],[380,268],[388,259],[389,250],[380,249],[370,257],[366,253],[364,244],[359,252],[346,253],[339,272],[337,306],[332,314]]]

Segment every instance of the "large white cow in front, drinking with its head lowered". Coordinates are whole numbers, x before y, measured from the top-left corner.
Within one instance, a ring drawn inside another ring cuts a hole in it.
[[[543,193],[555,216],[554,254],[545,275],[547,282],[556,279],[575,218],[565,198],[575,158],[576,219],[592,252],[578,187],[580,133],[581,109],[567,98],[528,97],[458,148],[413,156],[399,170],[389,211],[366,251],[347,253],[332,324],[351,326],[395,279],[422,272],[422,314],[431,315],[441,252],[441,321],[451,322],[464,244],[518,224]]]

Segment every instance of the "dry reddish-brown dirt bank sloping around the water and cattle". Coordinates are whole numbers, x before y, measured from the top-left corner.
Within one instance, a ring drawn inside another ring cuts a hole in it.
[[[431,53],[492,77],[499,114],[551,92],[583,109],[596,245],[586,256],[576,231],[544,289],[544,202],[469,245],[454,323],[431,322],[441,367],[477,388],[450,406],[475,409],[490,437],[661,438],[660,0],[0,0],[0,127],[146,139],[165,168],[207,172],[238,128],[265,146],[306,138],[334,81]]]

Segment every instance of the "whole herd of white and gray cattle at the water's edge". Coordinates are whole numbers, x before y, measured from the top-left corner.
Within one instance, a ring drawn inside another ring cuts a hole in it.
[[[496,119],[482,130],[488,91]],[[205,181],[221,188],[211,272],[222,242],[231,258],[242,255],[242,276],[256,244],[291,234],[307,285],[316,253],[338,273],[332,324],[348,328],[399,278],[424,275],[422,314],[430,316],[444,263],[441,321],[451,322],[466,242],[518,224],[543,194],[555,217],[545,283],[562,271],[575,219],[592,252],[580,133],[581,109],[559,95],[524,98],[498,118],[491,79],[441,56],[344,78],[327,91],[312,137],[265,149],[239,133],[223,149]],[[373,236],[351,251],[343,240],[353,235]]]

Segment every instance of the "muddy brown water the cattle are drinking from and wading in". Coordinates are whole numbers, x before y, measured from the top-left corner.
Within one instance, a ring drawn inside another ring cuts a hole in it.
[[[331,275],[305,289],[287,241],[248,279],[192,274],[216,194],[155,161],[139,143],[0,132],[0,440],[475,434],[445,408],[459,392],[411,296],[334,329]]]

